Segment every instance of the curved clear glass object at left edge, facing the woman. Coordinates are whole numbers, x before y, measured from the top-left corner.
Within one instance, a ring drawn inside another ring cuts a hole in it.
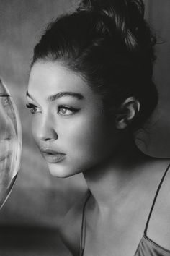
[[[0,77],[0,208],[9,197],[20,167],[22,129],[17,107]]]

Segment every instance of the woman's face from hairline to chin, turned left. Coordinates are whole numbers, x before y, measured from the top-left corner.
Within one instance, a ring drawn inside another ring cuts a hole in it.
[[[27,101],[32,134],[51,174],[78,174],[110,154],[111,127],[103,114],[102,99],[79,74],[59,62],[35,63]]]

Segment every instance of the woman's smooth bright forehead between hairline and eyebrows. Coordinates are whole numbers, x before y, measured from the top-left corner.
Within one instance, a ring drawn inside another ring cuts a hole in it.
[[[91,88],[76,72],[73,72],[58,62],[37,62],[30,72],[28,92],[31,95],[48,97],[53,93],[73,91],[89,95]]]

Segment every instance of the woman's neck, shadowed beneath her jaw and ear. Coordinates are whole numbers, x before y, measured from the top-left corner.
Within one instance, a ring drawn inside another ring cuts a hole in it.
[[[99,208],[110,208],[110,205],[121,203],[134,187],[140,186],[145,163],[150,157],[144,155],[132,141],[131,138],[124,138],[109,159],[84,172],[87,186]]]

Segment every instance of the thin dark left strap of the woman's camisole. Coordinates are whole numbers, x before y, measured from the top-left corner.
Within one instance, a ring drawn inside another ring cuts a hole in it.
[[[81,239],[80,239],[80,256],[84,255],[84,247],[85,247],[85,238],[86,238],[86,225],[85,225],[85,210],[86,210],[86,203],[89,200],[89,197],[91,196],[91,192],[88,191],[86,200],[84,202],[84,208],[82,213],[82,220],[81,220]]]

